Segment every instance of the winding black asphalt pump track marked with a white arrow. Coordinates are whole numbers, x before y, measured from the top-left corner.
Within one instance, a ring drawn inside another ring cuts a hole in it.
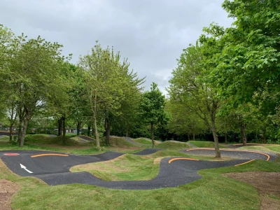
[[[156,149],[146,149],[143,153],[151,153],[152,151],[149,150],[153,150],[153,152],[158,151]],[[19,155],[10,156],[7,153],[18,153]],[[141,154],[140,152],[139,155]],[[164,158],[160,162],[158,176],[150,181],[102,181],[88,172],[69,172],[69,169],[75,165],[112,160],[120,157],[120,155],[123,155],[123,153],[106,152],[99,155],[70,155],[45,151],[0,151],[1,160],[15,174],[20,176],[35,176],[50,186],[83,183],[104,188],[132,190],[181,186],[200,179],[201,176],[197,174],[200,169],[230,167],[248,162],[248,159],[204,161],[185,160],[186,158],[179,160],[177,160],[178,158]],[[267,160],[267,156],[255,156],[254,159]],[[20,165],[25,168],[22,168]]]

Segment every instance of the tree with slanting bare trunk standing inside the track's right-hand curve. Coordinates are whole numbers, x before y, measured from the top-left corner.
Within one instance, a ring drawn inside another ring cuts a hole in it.
[[[208,58],[211,56],[203,55],[203,50],[198,44],[183,50],[178,67],[172,71],[168,92],[172,101],[185,104],[190,111],[204,120],[214,137],[216,158],[221,158],[216,132],[216,114],[221,100],[216,88],[206,79],[212,67],[209,64],[211,59]],[[210,55],[213,54],[214,52]]]

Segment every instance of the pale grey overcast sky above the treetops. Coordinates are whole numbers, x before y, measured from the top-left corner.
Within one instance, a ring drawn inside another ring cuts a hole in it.
[[[139,78],[165,92],[183,48],[211,22],[230,27],[223,0],[0,0],[0,24],[64,45],[76,64],[96,40],[128,57]]]

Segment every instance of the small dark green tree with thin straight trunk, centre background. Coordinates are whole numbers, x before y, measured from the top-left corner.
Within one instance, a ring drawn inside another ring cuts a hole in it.
[[[167,118],[165,113],[165,96],[162,94],[162,92],[160,92],[156,83],[151,84],[151,91],[144,92],[140,109],[141,116],[144,118],[146,123],[151,125],[151,139],[153,142],[153,147],[155,147],[155,125],[164,123]]]

